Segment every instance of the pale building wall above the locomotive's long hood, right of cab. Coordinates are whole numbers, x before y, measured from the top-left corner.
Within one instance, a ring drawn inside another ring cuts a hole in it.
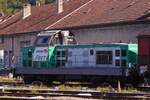
[[[113,26],[105,28],[87,28],[71,30],[78,43],[137,43],[136,36],[150,33],[150,24]]]

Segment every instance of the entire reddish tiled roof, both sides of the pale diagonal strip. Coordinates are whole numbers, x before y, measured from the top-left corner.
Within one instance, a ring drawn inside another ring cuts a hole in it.
[[[69,0],[60,14],[56,3],[32,7],[25,19],[19,12],[0,23],[0,34],[142,20],[149,18],[149,10],[150,0]]]

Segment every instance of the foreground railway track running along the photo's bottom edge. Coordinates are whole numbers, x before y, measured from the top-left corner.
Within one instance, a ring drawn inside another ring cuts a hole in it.
[[[36,98],[39,97],[39,98]],[[50,89],[0,89],[0,99],[7,100],[46,100],[51,97],[78,97],[109,100],[148,100],[149,93],[105,93],[97,91],[56,91]]]

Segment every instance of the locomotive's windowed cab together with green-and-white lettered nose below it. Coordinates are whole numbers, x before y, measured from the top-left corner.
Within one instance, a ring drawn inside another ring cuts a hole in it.
[[[58,45],[76,44],[69,31],[44,31],[37,35],[34,46],[22,48],[23,67],[55,67],[55,52]]]

